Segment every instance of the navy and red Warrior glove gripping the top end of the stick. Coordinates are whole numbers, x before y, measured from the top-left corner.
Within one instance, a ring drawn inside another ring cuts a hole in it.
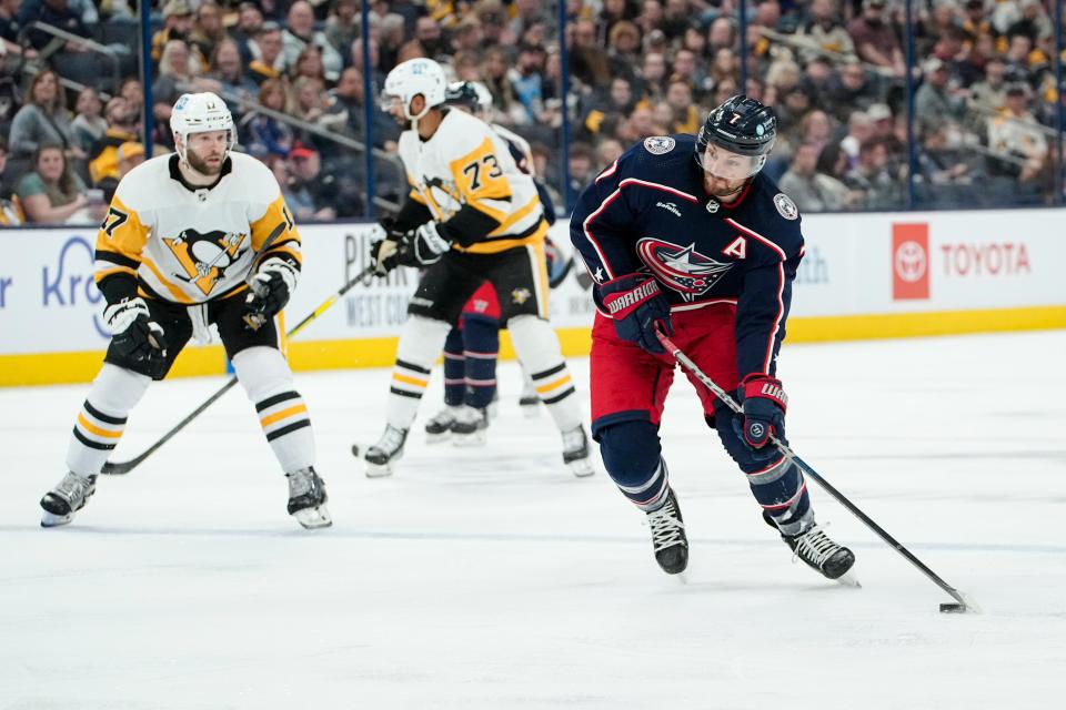
[[[636,343],[653,355],[666,352],[655,336],[655,328],[673,335],[674,325],[670,320],[670,302],[658,290],[658,282],[644,274],[627,274],[599,286],[597,292],[614,318],[614,331],[620,338]]]

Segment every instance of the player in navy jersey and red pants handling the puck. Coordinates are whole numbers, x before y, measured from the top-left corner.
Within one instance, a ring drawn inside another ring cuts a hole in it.
[[[785,439],[776,376],[792,282],[803,257],[795,203],[761,174],[776,136],[772,109],[744,95],[714,109],[698,135],[648,138],[580,196],[571,239],[593,277],[592,430],[622,494],[646,513],[655,558],[688,561],[658,426],[672,339],[726,390],[734,415],[691,375],[707,425],[745,474],[763,517],[829,579],[854,564],[815,524],[803,474],[770,442]]]

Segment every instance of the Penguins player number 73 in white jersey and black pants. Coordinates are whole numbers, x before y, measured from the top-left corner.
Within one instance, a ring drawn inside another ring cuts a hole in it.
[[[392,374],[386,426],[365,454],[366,475],[383,476],[403,453],[430,371],[463,305],[494,286],[519,359],[563,437],[563,462],[592,473],[573,379],[547,322],[544,237],[547,223],[533,180],[484,121],[446,108],[440,64],[412,59],[385,79],[382,109],[410,121],[400,158],[410,199],[372,257],[379,274],[398,264],[425,268],[408,308]]]

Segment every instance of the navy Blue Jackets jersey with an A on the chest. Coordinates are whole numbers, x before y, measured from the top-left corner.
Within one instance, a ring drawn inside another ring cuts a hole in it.
[[[741,378],[774,375],[803,257],[800,213],[762,173],[730,205],[708,195],[695,142],[660,135],[626,151],[579,197],[571,240],[599,284],[641,272],[675,312],[735,306]]]

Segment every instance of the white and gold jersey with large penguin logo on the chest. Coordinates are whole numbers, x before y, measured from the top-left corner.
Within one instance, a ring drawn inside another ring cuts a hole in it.
[[[252,258],[275,230],[260,262],[283,256],[299,268],[292,214],[254,158],[231,152],[211,187],[187,183],[177,154],[153,158],[119,183],[97,233],[95,281],[105,294],[105,282],[128,281],[132,295],[135,280],[139,295],[187,305],[227,297],[247,288]]]

